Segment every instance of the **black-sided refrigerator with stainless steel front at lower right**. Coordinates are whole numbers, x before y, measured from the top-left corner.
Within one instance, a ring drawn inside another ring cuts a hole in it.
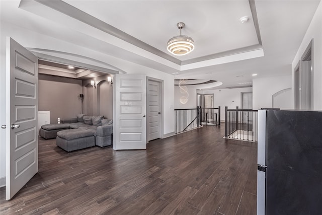
[[[322,214],[322,112],[258,111],[257,214]]]

